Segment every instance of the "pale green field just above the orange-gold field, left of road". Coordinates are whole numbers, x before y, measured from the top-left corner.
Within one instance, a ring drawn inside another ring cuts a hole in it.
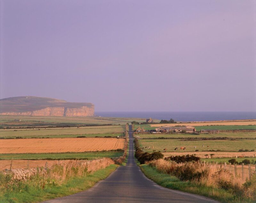
[[[40,129],[40,130],[38,130]],[[117,126],[95,126],[95,127],[65,127],[65,128],[36,128],[36,129],[1,129],[0,137],[12,136],[44,136],[48,135],[85,135],[85,134],[108,134],[125,132],[124,125]]]

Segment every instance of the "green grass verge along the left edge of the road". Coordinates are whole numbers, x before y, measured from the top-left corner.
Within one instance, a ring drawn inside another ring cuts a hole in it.
[[[24,190],[20,192],[3,193],[0,191],[0,203],[40,202],[81,192],[91,188],[98,181],[107,178],[117,167],[118,165],[112,164],[85,177],[70,178],[63,185],[46,186],[42,189],[25,184]]]

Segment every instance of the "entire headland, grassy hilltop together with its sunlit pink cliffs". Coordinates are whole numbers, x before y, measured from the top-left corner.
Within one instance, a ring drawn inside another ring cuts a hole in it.
[[[94,116],[94,105],[54,98],[12,97],[0,99],[0,115]]]

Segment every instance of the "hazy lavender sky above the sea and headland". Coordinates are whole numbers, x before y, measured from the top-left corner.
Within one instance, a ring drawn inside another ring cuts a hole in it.
[[[0,98],[256,111],[256,2],[0,0]]]

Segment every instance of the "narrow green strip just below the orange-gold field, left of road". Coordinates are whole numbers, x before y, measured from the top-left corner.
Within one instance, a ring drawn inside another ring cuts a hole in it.
[[[124,152],[83,152],[83,153],[37,153],[37,154],[1,154],[0,160],[9,159],[95,159],[119,157]]]

